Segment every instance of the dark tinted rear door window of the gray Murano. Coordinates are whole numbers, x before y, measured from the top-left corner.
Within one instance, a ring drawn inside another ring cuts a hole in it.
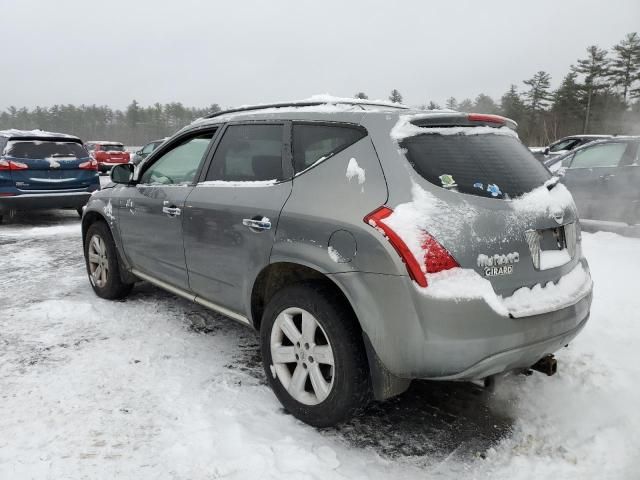
[[[281,180],[282,125],[231,125],[213,156],[206,180]]]

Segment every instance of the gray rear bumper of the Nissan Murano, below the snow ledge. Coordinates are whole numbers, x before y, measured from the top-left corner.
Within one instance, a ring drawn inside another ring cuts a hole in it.
[[[426,298],[404,276],[354,272],[333,278],[380,362],[400,378],[474,380],[528,368],[584,328],[592,299],[589,288],[557,310],[512,318],[483,299]]]

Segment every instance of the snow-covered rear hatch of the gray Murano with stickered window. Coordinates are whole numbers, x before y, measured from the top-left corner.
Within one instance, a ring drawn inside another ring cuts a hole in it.
[[[416,258],[428,249],[426,233],[503,297],[557,282],[580,256],[571,195],[505,119],[471,118],[414,119],[394,129],[418,175],[412,201],[397,205],[387,223]]]

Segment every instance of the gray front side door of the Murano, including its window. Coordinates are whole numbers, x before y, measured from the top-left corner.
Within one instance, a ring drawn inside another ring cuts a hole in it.
[[[131,265],[188,289],[182,219],[214,132],[179,138],[151,160],[139,182],[120,198],[118,220]]]

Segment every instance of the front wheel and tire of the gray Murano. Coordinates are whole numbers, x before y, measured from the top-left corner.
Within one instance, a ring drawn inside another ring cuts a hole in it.
[[[95,222],[88,228],[84,259],[89,282],[96,295],[107,300],[117,300],[131,292],[133,283],[122,281],[116,245],[104,222]]]

